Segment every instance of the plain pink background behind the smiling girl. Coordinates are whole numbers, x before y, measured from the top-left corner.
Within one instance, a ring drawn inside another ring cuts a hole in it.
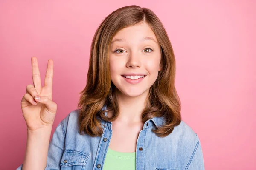
[[[198,133],[206,170],[256,169],[256,1],[156,2],[0,1],[1,170],[23,163],[27,134],[20,101],[32,84],[31,57],[38,58],[42,83],[48,59],[54,61],[53,134],[86,85],[96,28],[127,5],[153,10],[169,34],[182,118]]]

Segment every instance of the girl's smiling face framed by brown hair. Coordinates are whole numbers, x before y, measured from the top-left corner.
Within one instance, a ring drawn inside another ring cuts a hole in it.
[[[160,44],[147,23],[123,28],[113,37],[109,59],[116,90],[140,96],[149,92],[161,69]]]

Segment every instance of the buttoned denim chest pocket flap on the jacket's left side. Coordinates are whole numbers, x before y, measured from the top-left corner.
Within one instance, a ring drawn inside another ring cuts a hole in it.
[[[61,167],[70,167],[72,170],[81,170],[85,166],[90,154],[83,153],[79,150],[65,149],[61,157]],[[63,169],[63,168],[61,168]],[[66,168],[64,168],[66,170]]]

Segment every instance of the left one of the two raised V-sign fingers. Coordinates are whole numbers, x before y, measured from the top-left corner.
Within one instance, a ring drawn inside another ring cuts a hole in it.
[[[38,94],[40,94],[42,85],[41,85],[40,71],[38,68],[38,62],[36,57],[31,57],[31,65],[32,65],[32,79],[33,79],[34,87],[38,92]]]

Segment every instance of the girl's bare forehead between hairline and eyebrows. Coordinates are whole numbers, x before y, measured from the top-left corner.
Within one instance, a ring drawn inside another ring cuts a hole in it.
[[[152,41],[156,44],[157,38],[147,23],[141,23],[129,26],[118,31],[111,41],[111,45],[115,42],[143,42]]]

